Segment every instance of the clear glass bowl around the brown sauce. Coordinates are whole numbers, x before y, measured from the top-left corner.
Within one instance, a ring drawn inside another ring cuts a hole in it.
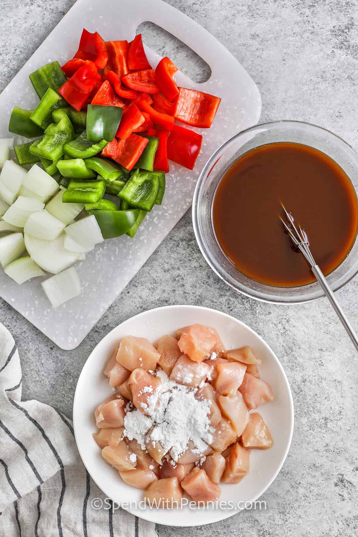
[[[347,142],[323,127],[303,121],[271,121],[250,127],[232,136],[215,151],[204,166],[193,198],[193,226],[196,241],[211,269],[228,285],[253,299],[275,303],[301,303],[324,296],[318,282],[300,287],[273,287],[261,284],[240,272],[225,256],[213,227],[213,201],[218,184],[230,166],[250,149],[274,142],[295,142],[322,151],[331,157],[358,190],[358,154]],[[358,240],[345,260],[328,274],[333,291],[358,272]]]

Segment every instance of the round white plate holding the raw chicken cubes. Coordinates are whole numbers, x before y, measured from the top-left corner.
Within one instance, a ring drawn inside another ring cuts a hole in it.
[[[78,451],[83,463],[98,487],[106,497],[121,503],[137,502],[143,498],[143,491],[124,483],[118,471],[109,466],[101,457],[101,451],[92,438],[96,431],[94,409],[113,395],[108,379],[103,375],[104,365],[118,340],[126,335],[141,336],[154,342],[160,336],[173,333],[188,324],[201,323],[214,326],[227,349],[251,345],[261,358],[260,376],[272,386],[275,400],[259,408],[274,439],[271,449],[253,449],[250,473],[236,485],[220,484],[220,501],[254,502],[271,485],[279,473],[290,447],[294,408],[289,383],[279,360],[264,340],[246,324],[235,318],[209,308],[199,306],[165,306],[144,311],[123,322],[105,336],[91,352],[77,382],[74,400],[74,429]],[[240,503],[240,507],[243,505]],[[127,509],[137,517],[169,526],[199,526],[223,520],[240,512],[240,509],[189,509],[156,510]]]

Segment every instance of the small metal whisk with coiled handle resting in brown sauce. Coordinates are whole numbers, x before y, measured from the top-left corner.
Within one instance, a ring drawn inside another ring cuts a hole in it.
[[[293,215],[291,215],[290,213],[286,211],[283,204],[281,205],[283,207],[283,211],[285,212],[287,220],[289,222],[289,225],[287,225],[286,222],[284,222],[280,216],[280,219],[284,227],[286,228],[296,248],[298,248],[299,251],[303,253],[305,259],[311,265],[311,270],[313,274],[315,275],[315,278],[317,279],[319,285],[322,287],[327,299],[331,302],[335,313],[338,315],[340,322],[344,326],[348,336],[350,337],[350,340],[355,346],[355,350],[358,352],[357,336],[355,335],[355,332],[353,331],[352,326],[350,326],[345,314],[343,313],[337,300],[335,299],[333,291],[328,285],[326,278],[324,277],[322,271],[320,270],[319,266],[317,265],[317,263],[315,262],[315,259],[312,256],[312,253],[309,248],[308,237],[305,231],[299,225],[298,225],[298,229],[296,228]]]

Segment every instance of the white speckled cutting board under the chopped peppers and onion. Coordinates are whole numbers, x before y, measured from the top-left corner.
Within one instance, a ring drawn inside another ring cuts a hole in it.
[[[97,30],[105,41],[130,41],[144,21],[172,33],[209,64],[211,77],[207,82],[196,84],[178,71],[178,85],[212,93],[222,101],[213,126],[195,129],[203,134],[195,169],[190,171],[171,163],[163,204],[148,214],[135,238],[125,235],[106,240],[86,254],[85,262],[75,265],[83,289],[81,296],[52,309],[42,291],[41,278],[19,286],[0,272],[0,296],[66,350],[82,342],[191,206],[196,180],[210,155],[230,136],[256,124],[260,118],[261,97],[252,78],[213,35],[185,14],[162,0],[77,0],[0,95],[0,137],[9,136],[13,106],[33,108],[38,103],[28,75],[45,63],[58,60],[62,65],[72,58],[83,28],[90,32]],[[145,51],[155,68],[160,57],[148,47]],[[176,62],[175,57],[171,59]],[[26,141],[16,137],[15,144]]]

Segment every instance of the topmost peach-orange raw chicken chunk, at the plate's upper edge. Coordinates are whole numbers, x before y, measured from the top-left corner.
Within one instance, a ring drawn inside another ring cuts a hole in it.
[[[216,338],[202,324],[192,324],[181,334],[178,347],[194,362],[201,362],[214,349]]]

